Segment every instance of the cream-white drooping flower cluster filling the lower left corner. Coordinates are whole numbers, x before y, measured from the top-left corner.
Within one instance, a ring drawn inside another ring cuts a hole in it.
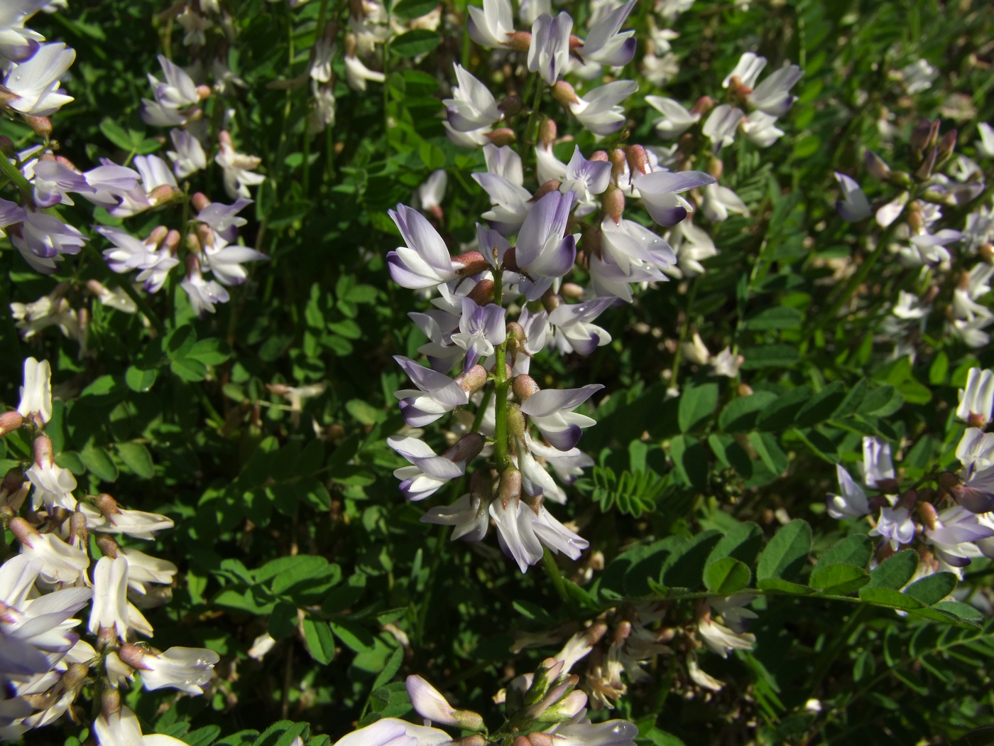
[[[79,720],[76,702],[88,689],[99,702],[93,730],[101,746],[137,743],[138,721],[118,689],[137,675],[148,690],[202,694],[220,657],[138,642],[153,634],[141,610],[168,601],[177,568],[133,540],[150,541],[173,521],[122,507],[105,493],[78,499],[76,477],[59,466],[45,434],[52,413],[49,363],[28,358],[20,404],[0,415],[0,434],[23,430],[33,453],[30,466],[11,469],[0,486],[0,515],[20,544],[0,566],[0,734],[17,738],[64,715]],[[87,606],[89,641],[74,618]]]

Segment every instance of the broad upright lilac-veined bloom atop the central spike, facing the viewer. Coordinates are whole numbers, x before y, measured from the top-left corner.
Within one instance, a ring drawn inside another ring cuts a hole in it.
[[[515,262],[523,279],[521,290],[537,300],[553,280],[562,278],[577,258],[577,236],[564,236],[576,195],[550,192],[532,207],[518,234]]]

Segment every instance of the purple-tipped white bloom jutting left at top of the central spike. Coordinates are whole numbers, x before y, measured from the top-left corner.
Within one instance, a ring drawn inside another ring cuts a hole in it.
[[[387,255],[390,277],[403,287],[418,289],[434,287],[455,280],[458,267],[452,262],[448,248],[427,219],[407,205],[390,211],[407,246]]]

